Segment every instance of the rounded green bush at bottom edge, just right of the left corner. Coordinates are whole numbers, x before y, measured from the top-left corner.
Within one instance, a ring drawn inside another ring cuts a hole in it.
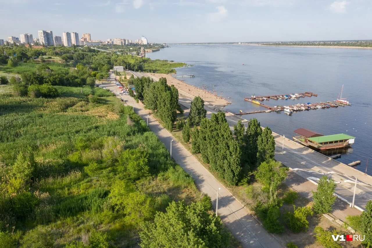
[[[54,238],[49,229],[37,226],[26,232],[21,244],[22,248],[49,248],[54,246]]]

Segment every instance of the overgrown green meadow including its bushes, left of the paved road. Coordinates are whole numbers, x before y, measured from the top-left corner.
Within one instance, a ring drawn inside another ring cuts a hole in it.
[[[0,95],[1,245],[138,247],[157,211],[202,198],[131,107],[104,89],[56,88],[52,99]],[[32,164],[28,177],[20,164]]]

